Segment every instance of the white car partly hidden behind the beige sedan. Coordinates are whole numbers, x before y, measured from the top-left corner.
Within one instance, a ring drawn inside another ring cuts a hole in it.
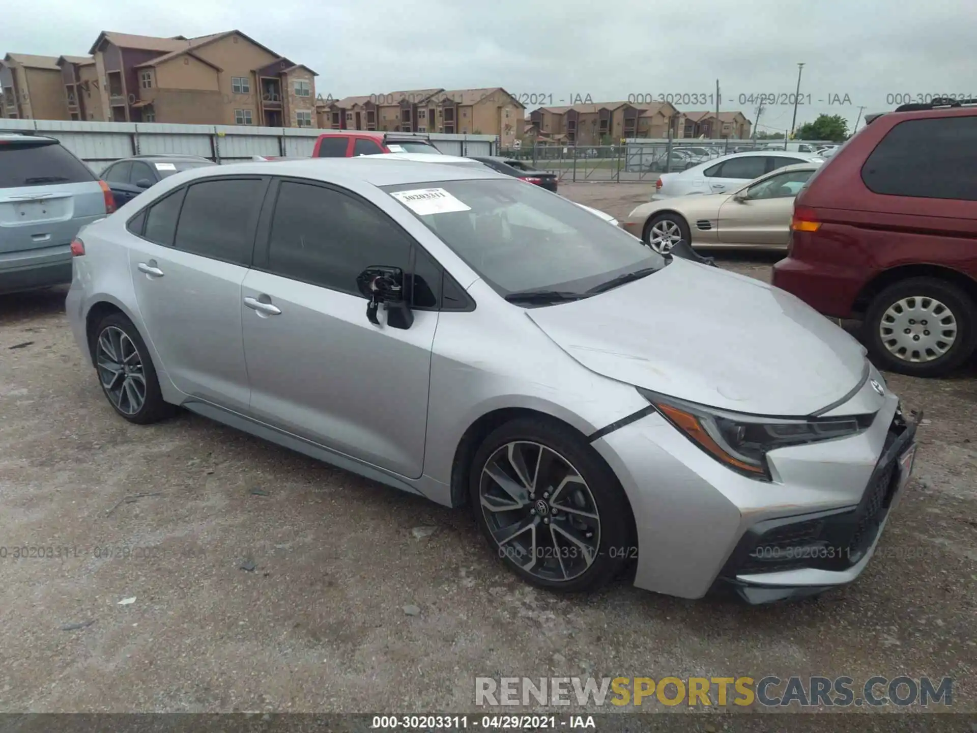
[[[662,173],[655,183],[652,200],[686,194],[722,194],[739,189],[764,173],[808,161],[823,163],[825,159],[811,153],[783,151],[723,155],[680,173]]]

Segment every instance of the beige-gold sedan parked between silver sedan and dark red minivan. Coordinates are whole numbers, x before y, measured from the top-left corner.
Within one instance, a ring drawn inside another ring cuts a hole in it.
[[[631,211],[621,227],[662,254],[680,239],[698,247],[786,249],[794,196],[820,165],[786,165],[729,194],[649,201]]]

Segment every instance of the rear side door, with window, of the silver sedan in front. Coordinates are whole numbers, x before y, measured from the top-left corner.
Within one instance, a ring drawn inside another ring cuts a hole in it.
[[[246,412],[241,281],[267,180],[207,179],[168,194],[133,237],[129,264],[149,339],[181,392]]]

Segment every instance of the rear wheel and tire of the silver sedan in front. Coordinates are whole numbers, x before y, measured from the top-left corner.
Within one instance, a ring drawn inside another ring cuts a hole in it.
[[[106,316],[96,327],[89,346],[102,391],[119,415],[137,425],[148,425],[175,412],[172,405],[163,401],[149,349],[129,319],[121,313]],[[114,360],[121,359],[124,364],[113,361],[113,355]],[[127,370],[119,371],[117,367]]]

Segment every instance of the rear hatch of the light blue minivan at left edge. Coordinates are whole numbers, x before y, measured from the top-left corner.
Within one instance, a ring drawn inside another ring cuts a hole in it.
[[[0,255],[66,247],[106,215],[92,170],[54,140],[0,144]]]

